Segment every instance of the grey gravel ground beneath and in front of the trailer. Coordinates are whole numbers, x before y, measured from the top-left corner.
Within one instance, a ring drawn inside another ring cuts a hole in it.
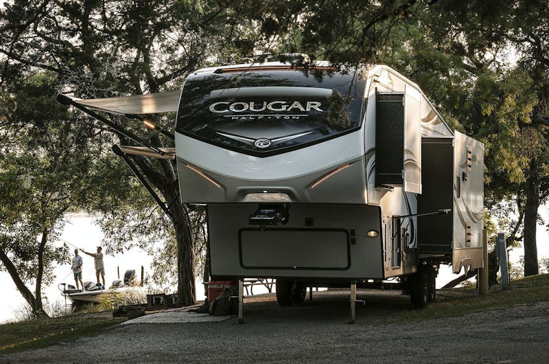
[[[248,299],[244,325],[139,323],[96,337],[0,356],[0,363],[549,363],[549,302],[419,323],[372,325],[409,310],[398,292],[314,293],[280,307],[273,294]]]

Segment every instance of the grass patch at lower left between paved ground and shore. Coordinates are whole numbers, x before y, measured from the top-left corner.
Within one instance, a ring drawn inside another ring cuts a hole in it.
[[[0,354],[45,348],[61,341],[73,341],[103,332],[122,321],[126,319],[83,314],[5,323],[0,325]]]

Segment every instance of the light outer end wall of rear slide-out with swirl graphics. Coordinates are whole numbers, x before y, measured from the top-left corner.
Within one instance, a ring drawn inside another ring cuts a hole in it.
[[[455,132],[454,273],[482,268],[484,144]]]

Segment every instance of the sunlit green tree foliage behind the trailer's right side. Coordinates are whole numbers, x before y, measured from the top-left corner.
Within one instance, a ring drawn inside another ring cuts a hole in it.
[[[511,244],[522,240],[524,220],[535,226],[524,216],[538,203],[526,197],[528,183],[541,187],[533,194],[539,203],[548,196],[549,76],[541,65],[549,33],[547,16],[539,16],[547,8],[546,1],[419,4],[379,53],[420,85],[450,126],[484,143],[485,203],[498,229],[516,237]]]

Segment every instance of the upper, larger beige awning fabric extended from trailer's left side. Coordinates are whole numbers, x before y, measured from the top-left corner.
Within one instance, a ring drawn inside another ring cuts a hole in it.
[[[145,93],[144,95],[120,96],[82,100],[71,98],[73,102],[98,111],[120,115],[156,114],[177,111],[181,91]]]

